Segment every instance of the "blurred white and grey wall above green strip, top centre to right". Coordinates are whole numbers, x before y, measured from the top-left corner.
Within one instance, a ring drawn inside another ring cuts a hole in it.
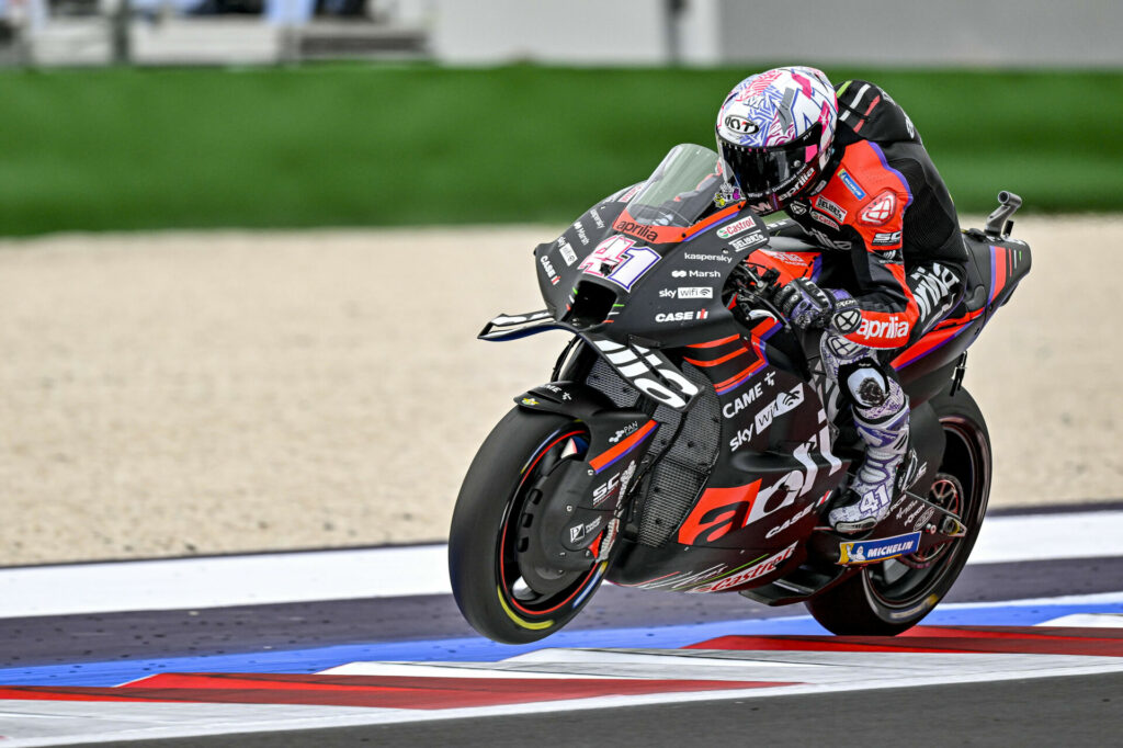
[[[666,0],[431,0],[450,64],[669,61]],[[686,64],[1123,65],[1123,2],[1085,0],[685,0]]]

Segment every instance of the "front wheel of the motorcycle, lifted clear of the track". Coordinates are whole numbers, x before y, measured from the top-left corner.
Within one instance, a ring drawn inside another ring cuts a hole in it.
[[[541,491],[544,481],[567,460],[584,459],[588,444],[578,421],[514,408],[472,460],[453,512],[448,571],[456,604],[483,636],[504,644],[547,637],[604,578],[608,560],[549,568],[529,563],[524,553],[551,499]]]

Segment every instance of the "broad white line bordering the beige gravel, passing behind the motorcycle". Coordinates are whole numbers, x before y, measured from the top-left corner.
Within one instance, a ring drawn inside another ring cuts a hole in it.
[[[993,517],[973,564],[1123,556],[1123,511]],[[449,594],[444,545],[0,569],[0,618]]]

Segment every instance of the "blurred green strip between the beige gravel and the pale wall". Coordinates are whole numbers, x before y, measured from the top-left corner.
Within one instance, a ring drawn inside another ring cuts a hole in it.
[[[0,74],[0,234],[573,220],[750,69],[319,65]],[[960,210],[1123,203],[1123,74],[861,71]]]

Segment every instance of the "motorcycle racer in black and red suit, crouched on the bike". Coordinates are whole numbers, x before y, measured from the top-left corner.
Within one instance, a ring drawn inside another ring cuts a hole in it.
[[[731,188],[758,213],[784,210],[776,232],[824,249],[816,279],[774,301],[800,328],[822,330],[825,401],[849,401],[865,457],[829,520],[873,528],[889,510],[909,444],[909,399],[888,365],[957,303],[967,253],[939,172],[904,110],[877,85],[778,67],[741,81],[718,112]],[[841,386],[840,386],[841,384]],[[832,413],[833,414],[833,413]]]

